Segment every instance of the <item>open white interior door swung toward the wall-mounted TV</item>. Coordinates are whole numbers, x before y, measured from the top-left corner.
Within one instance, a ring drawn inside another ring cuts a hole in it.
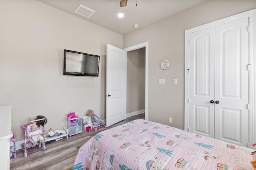
[[[107,44],[106,125],[126,119],[126,51]]]

